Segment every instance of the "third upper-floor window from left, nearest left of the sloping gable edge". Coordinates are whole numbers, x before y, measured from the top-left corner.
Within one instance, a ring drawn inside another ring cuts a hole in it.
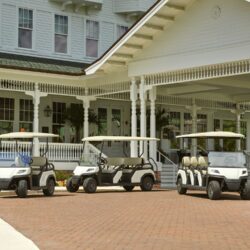
[[[86,56],[98,57],[99,23],[87,20]]]

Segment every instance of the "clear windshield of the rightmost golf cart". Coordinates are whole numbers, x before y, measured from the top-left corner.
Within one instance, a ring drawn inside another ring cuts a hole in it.
[[[210,167],[235,167],[246,166],[243,152],[209,152],[208,162]]]

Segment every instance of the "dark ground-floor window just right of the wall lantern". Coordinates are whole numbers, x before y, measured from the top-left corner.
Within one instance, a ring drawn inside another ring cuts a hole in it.
[[[63,102],[53,102],[53,127],[52,132],[59,135],[59,139],[53,141],[64,142],[64,123],[65,123],[66,104]]]

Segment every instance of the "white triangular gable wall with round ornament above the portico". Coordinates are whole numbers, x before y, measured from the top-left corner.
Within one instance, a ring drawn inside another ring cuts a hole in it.
[[[249,58],[249,11],[246,1],[195,1],[129,64],[129,75]]]

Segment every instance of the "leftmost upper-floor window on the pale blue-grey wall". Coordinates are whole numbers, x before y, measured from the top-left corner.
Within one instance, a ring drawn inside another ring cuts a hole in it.
[[[18,47],[32,48],[33,11],[19,8]]]

